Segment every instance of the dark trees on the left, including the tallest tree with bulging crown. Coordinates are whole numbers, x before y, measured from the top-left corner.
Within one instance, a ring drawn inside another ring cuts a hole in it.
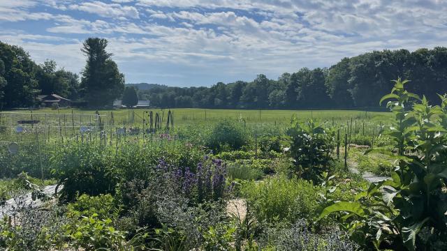
[[[124,75],[105,49],[108,41],[87,38],[81,52],[87,57],[79,77],[47,59],[35,63],[22,47],[0,42],[0,109],[35,107],[38,95],[58,94],[80,105],[112,105],[124,91]]]

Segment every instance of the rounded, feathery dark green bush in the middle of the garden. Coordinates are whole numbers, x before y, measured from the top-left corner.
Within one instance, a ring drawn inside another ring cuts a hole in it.
[[[214,151],[220,152],[224,149],[241,149],[248,142],[247,130],[240,123],[224,120],[214,126],[207,146]]]

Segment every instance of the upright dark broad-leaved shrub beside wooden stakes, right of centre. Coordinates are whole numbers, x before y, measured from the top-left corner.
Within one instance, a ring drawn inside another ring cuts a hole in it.
[[[290,151],[298,176],[312,179],[328,169],[335,142],[332,133],[312,119],[300,125],[296,116],[293,116],[287,134],[292,139]]]

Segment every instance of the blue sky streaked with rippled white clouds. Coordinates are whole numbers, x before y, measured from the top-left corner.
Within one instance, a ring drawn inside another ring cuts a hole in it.
[[[80,73],[107,38],[126,83],[277,79],[373,50],[447,46],[447,0],[0,0],[0,41]]]

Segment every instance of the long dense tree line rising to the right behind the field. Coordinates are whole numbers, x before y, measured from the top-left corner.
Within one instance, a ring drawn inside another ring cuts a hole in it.
[[[156,107],[302,109],[379,107],[391,79],[411,79],[409,91],[438,100],[447,92],[447,48],[374,51],[344,58],[330,68],[301,68],[278,79],[258,75],[251,82],[207,87],[151,84],[138,96]],[[141,84],[140,84],[141,85]]]

